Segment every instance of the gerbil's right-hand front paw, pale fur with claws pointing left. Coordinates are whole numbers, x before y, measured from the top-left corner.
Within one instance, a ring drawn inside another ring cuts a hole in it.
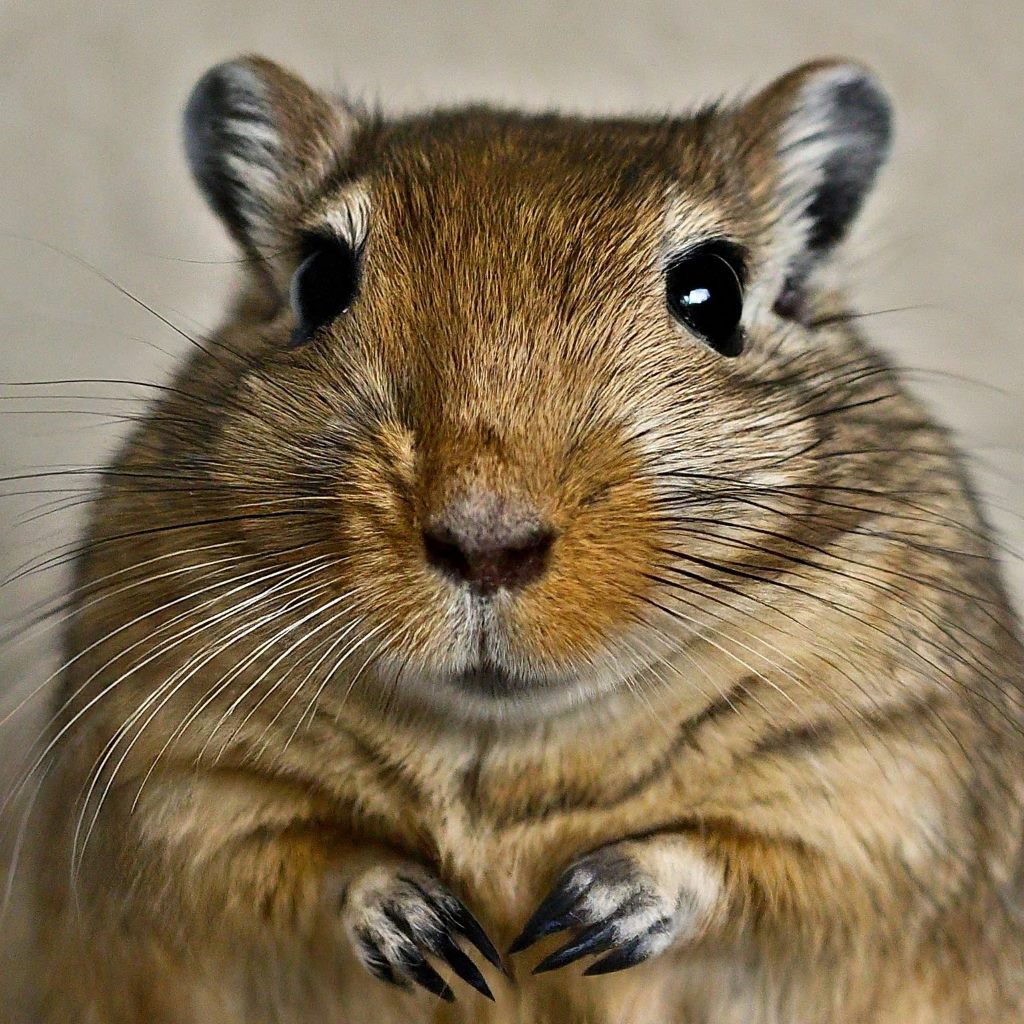
[[[534,974],[596,953],[607,955],[584,974],[622,971],[699,938],[723,911],[723,890],[720,868],[685,837],[613,843],[566,868],[509,952],[571,929]]]

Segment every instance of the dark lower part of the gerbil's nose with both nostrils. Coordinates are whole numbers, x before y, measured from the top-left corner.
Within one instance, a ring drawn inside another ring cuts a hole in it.
[[[530,529],[515,537],[460,537],[445,527],[425,529],[427,561],[457,583],[479,594],[501,587],[516,590],[544,574],[555,535]]]

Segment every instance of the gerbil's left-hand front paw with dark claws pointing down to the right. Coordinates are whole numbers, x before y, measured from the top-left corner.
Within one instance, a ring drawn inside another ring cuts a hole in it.
[[[423,868],[414,864],[369,868],[346,886],[341,913],[357,956],[374,977],[402,988],[416,982],[451,1002],[455,993],[427,963],[430,955],[494,998],[456,938],[472,943],[504,972],[498,950],[462,901]]]

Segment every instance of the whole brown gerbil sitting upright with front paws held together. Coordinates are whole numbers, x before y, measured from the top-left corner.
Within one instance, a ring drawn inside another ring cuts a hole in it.
[[[1018,625],[841,289],[869,73],[185,122],[245,285],[78,558],[40,1019],[1020,1021]]]

